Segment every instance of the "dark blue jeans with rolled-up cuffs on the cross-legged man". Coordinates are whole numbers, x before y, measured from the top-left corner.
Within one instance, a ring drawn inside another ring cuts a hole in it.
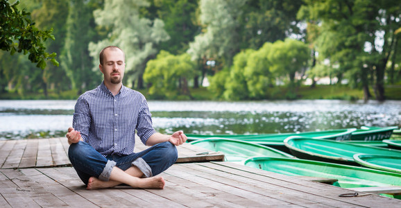
[[[108,181],[114,166],[123,171],[137,166],[144,173],[144,177],[152,177],[172,166],[178,158],[178,153],[176,146],[166,141],[139,153],[103,157],[92,146],[79,141],[69,146],[68,157],[80,180],[87,184],[92,176]]]

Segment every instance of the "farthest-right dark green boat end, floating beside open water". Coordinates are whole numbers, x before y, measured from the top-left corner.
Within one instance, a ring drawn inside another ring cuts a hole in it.
[[[380,141],[389,139],[393,134],[393,130],[397,130],[398,126],[389,127],[367,127],[362,126],[360,129],[352,132],[350,140],[362,141]]]

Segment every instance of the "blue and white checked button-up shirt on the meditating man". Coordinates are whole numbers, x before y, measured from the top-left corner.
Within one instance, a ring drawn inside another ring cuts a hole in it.
[[[141,93],[122,86],[113,96],[104,83],[78,98],[72,126],[103,156],[134,153],[135,130],[144,144],[155,133]]]

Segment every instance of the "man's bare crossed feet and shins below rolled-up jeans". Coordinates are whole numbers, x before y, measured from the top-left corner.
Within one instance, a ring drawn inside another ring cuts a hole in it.
[[[142,171],[135,166],[131,166],[126,171],[114,166],[110,174],[109,181],[99,180],[97,177],[90,177],[87,183],[88,190],[107,189],[116,187],[119,184],[128,184],[133,188],[139,189],[163,189],[164,179],[161,176],[142,178]]]

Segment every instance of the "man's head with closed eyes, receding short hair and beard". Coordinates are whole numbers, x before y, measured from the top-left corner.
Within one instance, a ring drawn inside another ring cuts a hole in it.
[[[103,63],[99,68],[103,73],[106,83],[121,83],[126,69],[123,51],[119,49],[105,49],[103,53]]]

